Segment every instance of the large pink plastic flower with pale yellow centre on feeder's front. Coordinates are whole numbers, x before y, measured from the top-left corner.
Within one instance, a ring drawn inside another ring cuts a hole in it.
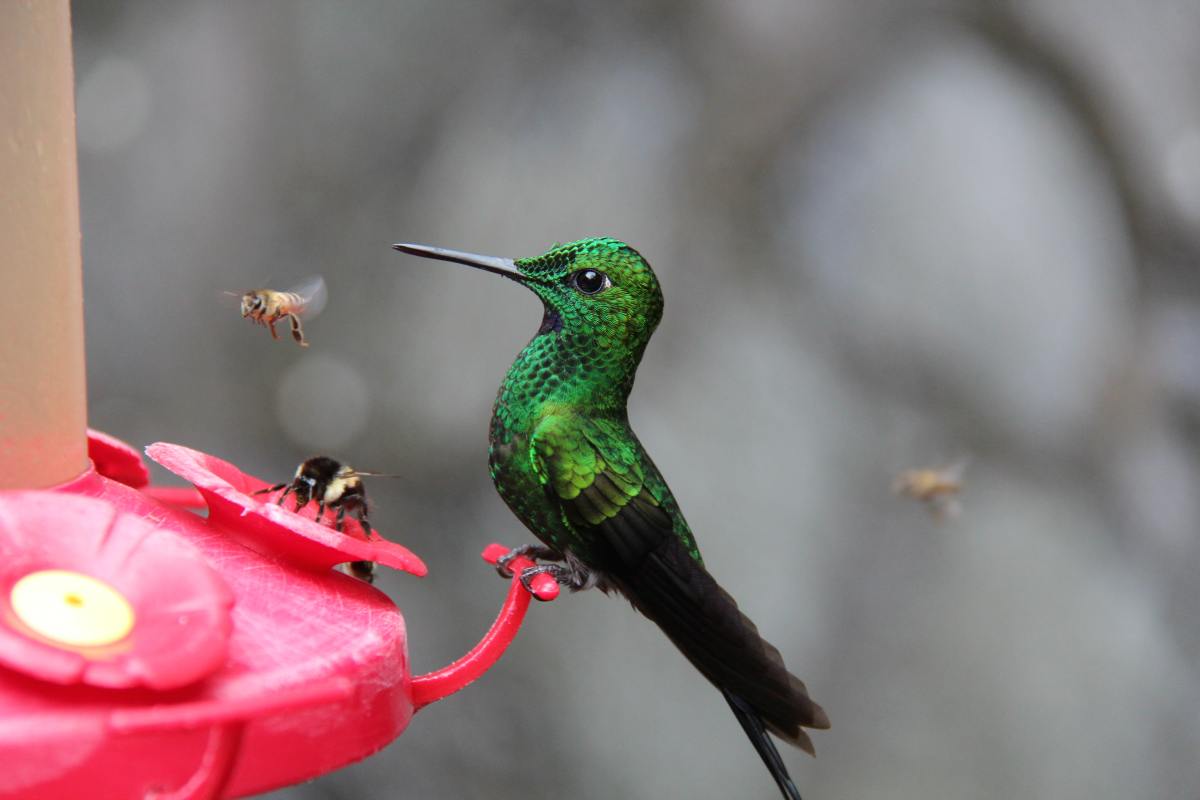
[[[233,595],[182,537],[92,498],[0,494],[0,663],[155,690],[226,658]]]

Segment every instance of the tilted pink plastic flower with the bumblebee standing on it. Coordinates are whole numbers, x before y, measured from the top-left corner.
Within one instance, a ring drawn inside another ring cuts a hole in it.
[[[347,533],[342,533],[277,505],[274,495],[254,494],[271,483],[216,456],[162,441],[146,447],[146,455],[194,483],[209,505],[209,519],[259,553],[311,569],[374,561],[419,577],[428,572],[404,546],[380,537],[378,531],[367,539],[354,519],[346,521]]]

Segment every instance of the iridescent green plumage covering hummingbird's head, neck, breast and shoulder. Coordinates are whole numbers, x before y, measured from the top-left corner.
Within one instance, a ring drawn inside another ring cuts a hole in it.
[[[649,265],[624,242],[588,239],[516,267],[546,305],[546,318],[496,398],[488,461],[500,497],[538,539],[588,566],[604,563],[592,528],[634,503],[666,510],[700,561],[691,530],[625,410],[662,317]],[[588,297],[564,284],[583,269],[605,272],[613,285]]]

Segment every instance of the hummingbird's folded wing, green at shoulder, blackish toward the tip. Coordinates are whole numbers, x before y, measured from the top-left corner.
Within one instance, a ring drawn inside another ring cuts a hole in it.
[[[828,728],[828,717],[704,569],[670,491],[628,426],[552,416],[534,433],[530,455],[581,542],[577,554],[584,563],[602,571],[708,680],[732,696],[743,726],[739,709],[749,709],[773,733],[811,753],[803,727]],[[769,746],[760,739],[751,733],[756,747],[762,741]]]

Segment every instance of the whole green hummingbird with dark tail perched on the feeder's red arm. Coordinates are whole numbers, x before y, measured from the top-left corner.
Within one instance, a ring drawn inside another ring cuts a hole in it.
[[[504,503],[541,545],[517,548],[572,591],[624,595],[725,696],[785,798],[799,800],[770,732],[814,754],[804,728],[826,712],[779,650],[716,583],[671,489],[629,425],[626,402],[662,317],[650,265],[625,242],[593,237],[533,258],[401,243],[530,289],[541,325],[500,384],[488,467]],[[503,573],[503,572],[502,572]]]

